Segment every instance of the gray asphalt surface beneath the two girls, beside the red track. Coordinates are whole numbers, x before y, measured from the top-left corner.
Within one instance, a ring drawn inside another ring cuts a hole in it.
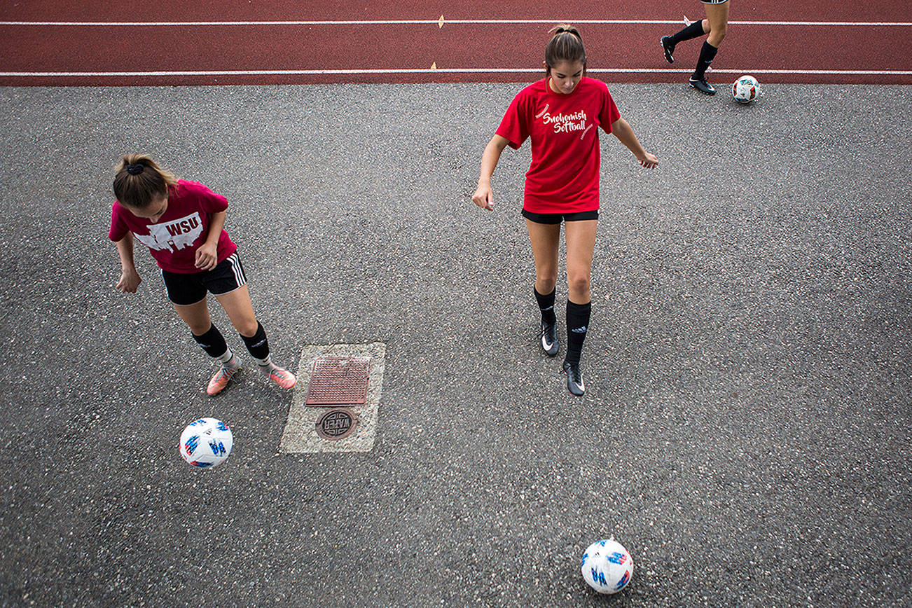
[[[661,164],[602,134],[577,399],[536,348],[528,145],[470,201],[521,87],[0,88],[0,604],[912,603],[912,88],[609,83]],[[231,201],[276,362],[387,345],[373,451],[276,456],[290,394],[207,397],[147,252],[114,291],[133,150]],[[201,416],[219,469],[178,456]]]

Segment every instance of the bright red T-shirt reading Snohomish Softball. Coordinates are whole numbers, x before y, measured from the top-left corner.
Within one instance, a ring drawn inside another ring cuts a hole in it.
[[[532,138],[523,209],[534,213],[598,209],[598,128],[610,133],[619,118],[615,100],[601,80],[583,77],[569,95],[554,93],[548,78],[523,88],[496,131],[513,149]]]

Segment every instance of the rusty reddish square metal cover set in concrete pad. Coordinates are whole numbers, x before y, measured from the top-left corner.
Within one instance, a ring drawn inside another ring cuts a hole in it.
[[[364,403],[368,397],[369,356],[321,356],[314,361],[308,406]]]

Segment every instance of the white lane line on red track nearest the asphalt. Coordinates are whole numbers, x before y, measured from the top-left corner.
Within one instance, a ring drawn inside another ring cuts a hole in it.
[[[144,77],[144,76],[334,76],[358,74],[526,74],[541,72],[533,67],[437,67],[401,69],[231,69],[160,70],[149,72],[0,72],[0,77]],[[590,68],[597,74],[689,74],[692,69],[615,67]],[[713,69],[715,74],[812,74],[839,76],[912,76],[912,70],[896,69]]]

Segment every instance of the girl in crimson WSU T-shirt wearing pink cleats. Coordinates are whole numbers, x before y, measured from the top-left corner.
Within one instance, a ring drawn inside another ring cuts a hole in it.
[[[237,245],[223,230],[228,201],[195,181],[178,180],[154,160],[124,156],[114,178],[114,202],[108,234],[120,256],[120,292],[134,293],[140,275],[133,263],[133,238],[148,246],[161,268],[168,298],[190,327],[193,339],[221,366],[206,392],[216,395],[240,369],[238,358],[209,316],[207,292],[222,304],[251,356],[275,384],[295,386],[295,376],[275,366],[263,325],[250,303]]]

